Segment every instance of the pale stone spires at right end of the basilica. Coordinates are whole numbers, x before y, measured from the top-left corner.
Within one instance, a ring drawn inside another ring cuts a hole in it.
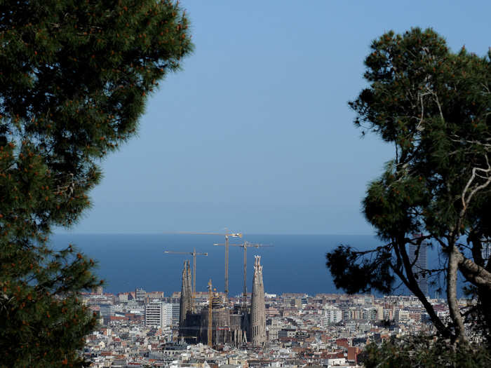
[[[266,311],[264,306],[264,285],[262,283],[261,257],[255,256],[253,296],[250,308],[250,341],[253,346],[266,343]]]

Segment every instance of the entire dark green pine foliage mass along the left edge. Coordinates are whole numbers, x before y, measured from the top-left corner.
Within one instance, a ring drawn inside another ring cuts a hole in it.
[[[83,364],[94,262],[48,237],[191,48],[172,1],[0,0],[0,367]]]

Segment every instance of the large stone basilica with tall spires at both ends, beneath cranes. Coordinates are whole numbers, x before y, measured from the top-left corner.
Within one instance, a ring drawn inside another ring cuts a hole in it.
[[[232,346],[264,346],[266,343],[266,313],[261,257],[255,256],[253,292],[250,306],[227,308],[222,298],[214,293],[211,300],[212,345],[227,343]],[[209,307],[194,309],[189,261],[184,261],[180,299],[179,335],[190,343],[208,343]]]

